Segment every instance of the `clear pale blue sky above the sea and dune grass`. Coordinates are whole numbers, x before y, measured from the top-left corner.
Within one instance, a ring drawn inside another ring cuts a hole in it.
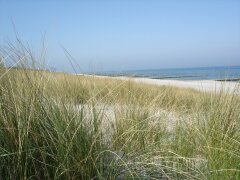
[[[240,65],[240,0],[0,0],[0,43],[12,22],[48,64],[69,71]]]

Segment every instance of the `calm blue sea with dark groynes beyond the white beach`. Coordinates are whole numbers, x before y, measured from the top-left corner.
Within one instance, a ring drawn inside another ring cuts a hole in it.
[[[101,72],[99,75],[132,76],[151,79],[240,81],[240,66],[146,69]]]

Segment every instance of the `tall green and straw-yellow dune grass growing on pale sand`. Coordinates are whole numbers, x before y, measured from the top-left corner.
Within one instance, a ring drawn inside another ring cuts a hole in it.
[[[0,68],[0,179],[240,178],[237,93],[29,66]]]

